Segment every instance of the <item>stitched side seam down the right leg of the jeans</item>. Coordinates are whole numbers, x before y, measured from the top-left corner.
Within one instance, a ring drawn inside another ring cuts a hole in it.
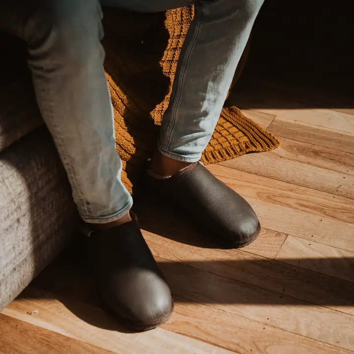
[[[175,97],[175,101],[174,101],[172,109],[171,109],[171,120],[170,120],[169,125],[166,129],[165,138],[164,138],[162,144],[160,145],[162,149],[168,149],[169,145],[171,144],[172,132],[173,132],[173,129],[176,124],[177,108],[178,108],[180,98],[181,98],[181,92],[182,92],[182,87],[183,87],[183,83],[184,83],[184,79],[185,79],[186,68],[188,65],[190,55],[191,55],[192,50],[194,48],[194,45],[197,41],[197,38],[198,38],[198,35],[200,32],[200,28],[205,20],[205,15],[206,15],[206,7],[205,6],[202,7],[202,11],[203,11],[204,16],[200,19],[200,22],[196,25],[196,28],[194,30],[193,41],[191,41],[188,49],[186,50],[185,58],[183,60],[183,65],[182,65],[181,71],[179,73],[180,79],[178,77],[179,80],[178,80],[178,84],[177,84],[176,97]]]

